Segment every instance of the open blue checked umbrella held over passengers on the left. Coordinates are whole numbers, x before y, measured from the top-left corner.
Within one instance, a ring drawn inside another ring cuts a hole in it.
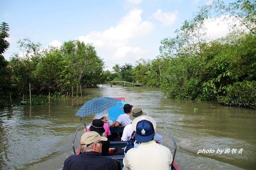
[[[118,100],[109,97],[99,97],[86,102],[77,112],[76,116],[85,117],[100,113],[112,106],[116,106]]]

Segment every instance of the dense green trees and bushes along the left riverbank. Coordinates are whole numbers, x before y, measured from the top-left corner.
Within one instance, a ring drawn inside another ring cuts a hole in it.
[[[2,93],[4,91],[15,96],[26,96],[29,94],[29,84],[32,94],[66,94],[71,93],[73,87],[75,95],[77,85],[78,88],[91,87],[102,81],[104,63],[91,44],[68,41],[60,49],[46,50],[42,49],[40,43],[22,39],[18,41],[22,56],[14,54],[8,62],[2,56],[9,46],[4,40],[8,37],[8,25],[2,23],[0,30],[1,96],[7,96]]]

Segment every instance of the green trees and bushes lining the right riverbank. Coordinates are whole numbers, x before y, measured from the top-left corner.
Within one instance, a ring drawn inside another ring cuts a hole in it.
[[[256,108],[255,9],[256,2],[248,0],[203,6],[194,18],[184,21],[174,37],[161,41],[156,59],[141,59],[129,70],[130,81],[160,87],[166,96],[177,100],[217,100]],[[212,15],[232,21],[233,31],[208,39],[204,21]],[[125,72],[113,69],[109,80],[125,77],[121,77]],[[113,76],[116,73],[118,76]]]

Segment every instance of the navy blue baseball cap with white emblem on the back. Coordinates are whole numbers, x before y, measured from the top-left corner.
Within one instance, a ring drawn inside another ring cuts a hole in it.
[[[138,142],[149,142],[154,137],[154,127],[150,121],[141,120],[136,125],[135,139]]]

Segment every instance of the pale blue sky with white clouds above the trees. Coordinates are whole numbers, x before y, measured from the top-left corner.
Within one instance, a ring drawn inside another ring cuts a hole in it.
[[[17,41],[30,38],[44,48],[60,47],[64,41],[78,39],[92,43],[105,62],[104,70],[114,64],[136,64],[154,59],[161,40],[173,37],[199,6],[212,0],[0,0],[0,22],[10,27],[6,40],[10,47],[4,57],[10,60],[20,52]],[[225,1],[224,1],[225,2]],[[210,38],[230,30],[221,18],[205,21]]]

